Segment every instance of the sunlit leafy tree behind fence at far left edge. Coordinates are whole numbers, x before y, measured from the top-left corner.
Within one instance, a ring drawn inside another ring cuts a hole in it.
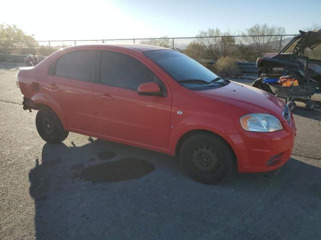
[[[0,23],[0,52],[9,53],[14,49],[23,49],[23,51],[30,52],[34,51],[37,46],[39,44],[36,42],[34,35],[26,34],[17,25]]]

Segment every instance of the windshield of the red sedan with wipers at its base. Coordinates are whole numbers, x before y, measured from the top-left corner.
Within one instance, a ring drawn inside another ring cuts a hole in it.
[[[144,54],[169,73],[174,80],[188,88],[216,87],[226,82],[201,63],[179,51],[150,50]]]

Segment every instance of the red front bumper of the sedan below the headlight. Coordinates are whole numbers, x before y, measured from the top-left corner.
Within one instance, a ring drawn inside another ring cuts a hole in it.
[[[264,172],[277,169],[291,156],[295,139],[295,123],[282,122],[283,129],[275,132],[229,134],[240,172]]]

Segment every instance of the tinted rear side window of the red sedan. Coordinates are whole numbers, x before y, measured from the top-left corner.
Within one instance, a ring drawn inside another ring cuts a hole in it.
[[[57,59],[57,76],[90,81],[90,71],[96,51],[84,50],[67,53]]]

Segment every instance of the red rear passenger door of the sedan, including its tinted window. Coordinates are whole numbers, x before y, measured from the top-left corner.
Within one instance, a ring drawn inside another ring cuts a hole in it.
[[[50,95],[63,109],[70,128],[95,132],[93,79],[96,50],[76,50],[56,59],[49,67]]]

